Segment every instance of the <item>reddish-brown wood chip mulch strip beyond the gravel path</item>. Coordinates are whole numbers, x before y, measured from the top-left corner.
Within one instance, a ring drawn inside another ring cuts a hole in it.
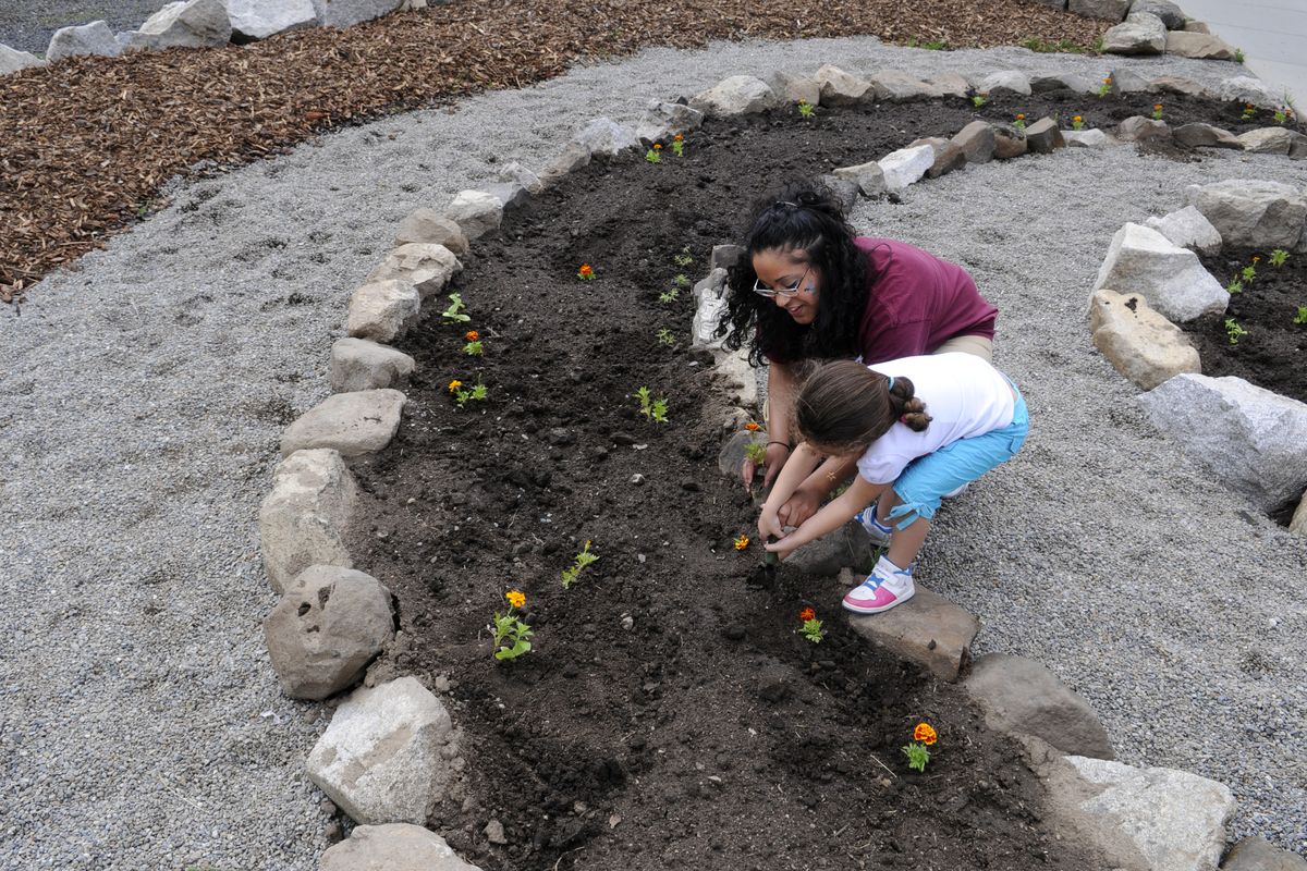
[[[878,35],[950,48],[1031,37],[1090,47],[1104,22],[1031,0],[461,0],[252,46],[74,57],[0,77],[0,300],[131,226],[196,165],[259,159],[318,133],[579,60],[710,39]]]

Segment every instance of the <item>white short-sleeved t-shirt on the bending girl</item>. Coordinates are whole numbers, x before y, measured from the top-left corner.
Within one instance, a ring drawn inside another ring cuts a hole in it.
[[[868,483],[893,483],[918,457],[1012,423],[1016,398],[1008,380],[974,354],[904,356],[867,368],[911,379],[915,394],[925,402],[925,413],[932,418],[924,432],[895,422],[872,443],[857,460],[857,471]]]

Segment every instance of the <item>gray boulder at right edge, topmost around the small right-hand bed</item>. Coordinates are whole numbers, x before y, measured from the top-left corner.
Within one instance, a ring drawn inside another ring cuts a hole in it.
[[[1191,184],[1184,189],[1184,201],[1201,212],[1233,248],[1293,249],[1307,223],[1307,197],[1281,182]]]

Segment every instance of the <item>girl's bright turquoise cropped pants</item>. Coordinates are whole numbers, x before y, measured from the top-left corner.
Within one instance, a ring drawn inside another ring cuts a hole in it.
[[[971,439],[958,439],[907,464],[894,482],[901,504],[890,511],[891,522],[904,529],[918,517],[931,520],[946,494],[1017,456],[1030,430],[1030,411],[1016,384],[1012,389],[1017,394],[1012,423]]]

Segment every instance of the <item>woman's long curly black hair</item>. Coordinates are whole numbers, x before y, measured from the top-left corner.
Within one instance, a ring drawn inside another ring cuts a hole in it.
[[[725,346],[738,350],[748,343],[754,366],[762,366],[767,355],[782,363],[856,355],[868,262],[831,191],[819,182],[792,183],[754,204],[748,226],[744,253],[727,279],[727,313],[718,324]],[[771,248],[801,251],[821,273],[812,324],[796,324],[771,299],[753,293],[758,279],[753,255]]]

